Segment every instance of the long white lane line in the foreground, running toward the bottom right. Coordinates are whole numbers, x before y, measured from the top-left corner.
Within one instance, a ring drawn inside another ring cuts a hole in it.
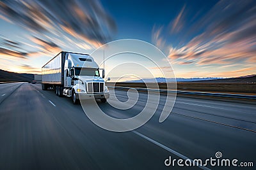
[[[178,156],[178,157],[180,157],[180,158],[182,158],[182,159],[184,159],[184,160],[189,159],[189,158],[186,157],[185,155],[182,155],[181,153],[176,152],[175,150],[172,150],[171,148],[168,148],[167,146],[164,146],[163,144],[158,143],[157,141],[154,141],[153,139],[150,139],[150,138],[148,138],[147,136],[145,136],[145,135],[143,135],[143,134],[141,134],[141,133],[139,133],[139,132],[137,132],[137,131],[132,131],[132,132],[134,132],[134,134],[137,134],[138,136],[140,136],[140,137],[146,139],[147,141],[150,141],[151,143],[154,143],[155,145],[160,146],[160,147],[163,148],[164,150],[167,150],[168,152],[173,153],[174,155],[176,155],[176,156]],[[189,159],[189,160],[191,160],[191,162],[194,162],[192,159]],[[195,162],[195,165],[197,166],[196,162]],[[202,166],[202,165],[200,165],[200,164],[198,165],[198,167],[201,168],[201,169],[211,170],[211,169],[209,169],[208,167]]]

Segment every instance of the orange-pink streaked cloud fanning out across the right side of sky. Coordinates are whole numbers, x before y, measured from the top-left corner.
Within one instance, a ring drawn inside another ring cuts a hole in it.
[[[186,21],[184,10],[185,6],[175,18],[172,32],[184,29],[182,27]],[[222,68],[237,63],[252,66],[251,64],[254,63],[255,69],[256,1],[219,1],[186,30],[183,30],[184,34],[179,36],[179,41],[182,43],[178,43],[177,46],[165,45],[161,48],[164,51],[168,49],[168,58],[173,63],[193,64],[193,66],[218,64],[217,67]],[[152,34],[157,34],[157,30],[153,28]],[[185,40],[189,36],[192,38]],[[157,38],[154,42],[165,41],[168,44],[170,37],[159,34]],[[253,66],[228,73],[242,74],[243,70],[253,71]]]

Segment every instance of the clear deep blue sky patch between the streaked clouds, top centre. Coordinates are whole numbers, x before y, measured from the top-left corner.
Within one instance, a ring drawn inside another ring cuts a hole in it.
[[[118,34],[115,39],[138,38],[151,41],[154,25],[168,25],[184,6],[189,6],[188,18],[191,20],[195,11],[202,12],[212,8],[218,1],[102,1],[106,10],[116,20]],[[200,5],[198,5],[200,4]],[[196,18],[195,18],[196,20]],[[189,29],[189,28],[188,28]],[[185,29],[188,30],[188,29]],[[172,36],[173,44],[180,34]]]

